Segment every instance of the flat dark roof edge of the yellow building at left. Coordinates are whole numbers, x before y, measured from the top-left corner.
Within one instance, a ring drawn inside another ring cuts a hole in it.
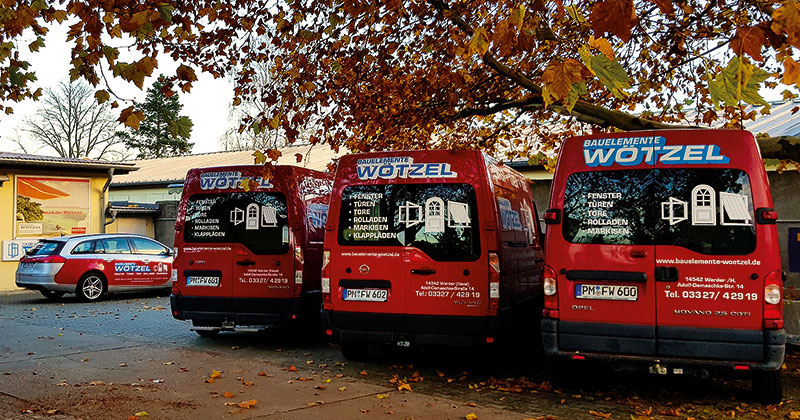
[[[106,172],[109,169],[114,169],[116,174],[128,174],[139,169],[134,163],[109,162],[106,160],[95,159],[74,159],[55,156],[39,156],[10,152],[0,152],[0,168],[47,168],[97,172]]]

